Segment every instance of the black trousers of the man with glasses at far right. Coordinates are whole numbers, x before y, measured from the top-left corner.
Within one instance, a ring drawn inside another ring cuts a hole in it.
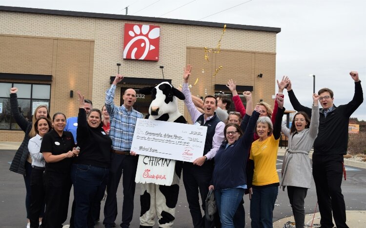
[[[332,228],[333,218],[337,228],[346,225],[346,205],[341,184],[343,176],[343,155],[313,154],[313,177],[318,197],[320,224],[322,228]]]

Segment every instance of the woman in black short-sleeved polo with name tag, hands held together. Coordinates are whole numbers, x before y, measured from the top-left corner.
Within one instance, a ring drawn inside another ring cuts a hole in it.
[[[46,161],[43,176],[46,210],[42,226],[62,228],[69,206],[72,157],[76,156],[79,150],[73,148],[75,142],[72,133],[63,131],[66,126],[64,114],[54,114],[52,125],[54,129],[43,136],[40,150]]]

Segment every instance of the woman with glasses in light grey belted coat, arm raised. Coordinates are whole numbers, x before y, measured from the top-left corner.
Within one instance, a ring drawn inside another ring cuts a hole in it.
[[[287,187],[296,228],[304,228],[304,200],[311,183],[311,165],[309,152],[318,135],[319,95],[313,94],[311,121],[305,112],[295,114],[291,129],[282,123],[282,133],[288,138],[288,149],[282,164],[281,186]]]

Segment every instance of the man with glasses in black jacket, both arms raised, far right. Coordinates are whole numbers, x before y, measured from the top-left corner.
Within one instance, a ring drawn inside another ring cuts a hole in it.
[[[348,228],[345,200],[341,190],[344,171],[343,155],[347,152],[349,117],[364,100],[357,71],[351,71],[349,74],[355,81],[355,93],[348,104],[335,106],[333,91],[328,88],[318,92],[323,108],[319,110],[319,133],[314,142],[312,160],[321,228],[333,228],[332,212],[336,227]],[[287,92],[294,109],[311,116],[311,108],[300,104],[289,80],[288,83]]]

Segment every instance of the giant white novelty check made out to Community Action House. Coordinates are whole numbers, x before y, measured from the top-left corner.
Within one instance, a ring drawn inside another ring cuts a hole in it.
[[[137,119],[131,151],[193,162],[203,155],[206,132],[205,126]]]

